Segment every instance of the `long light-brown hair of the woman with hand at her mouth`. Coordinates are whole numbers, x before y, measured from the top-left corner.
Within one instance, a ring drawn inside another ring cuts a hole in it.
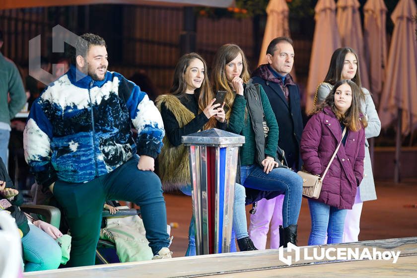
[[[242,55],[242,73],[240,78],[243,79],[243,82],[248,82],[250,79],[250,74],[248,70],[248,61],[246,56],[243,53],[242,49],[235,44],[225,44],[222,45],[214,56],[214,61],[211,67],[211,84],[213,84],[213,91],[226,91],[226,96],[224,98],[224,111],[226,111],[226,120],[230,118],[231,108],[233,107],[233,102],[235,98],[235,93],[233,92],[232,85],[227,81],[225,67],[228,63],[233,61],[239,53]]]

